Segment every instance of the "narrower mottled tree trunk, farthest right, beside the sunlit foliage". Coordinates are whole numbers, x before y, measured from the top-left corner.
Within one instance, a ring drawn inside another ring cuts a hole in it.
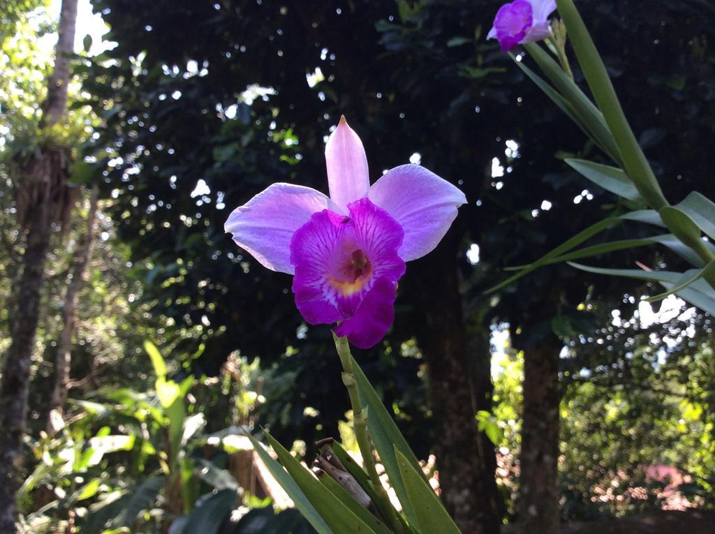
[[[558,357],[561,342],[549,335],[524,347],[523,422],[518,512],[523,532],[558,534]]]

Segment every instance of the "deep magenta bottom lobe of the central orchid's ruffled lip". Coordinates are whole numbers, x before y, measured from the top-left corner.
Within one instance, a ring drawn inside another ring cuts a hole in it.
[[[373,347],[383,339],[393,324],[395,295],[395,282],[378,278],[363,297],[355,315],[335,328],[335,335],[347,336],[347,340],[360,349]]]

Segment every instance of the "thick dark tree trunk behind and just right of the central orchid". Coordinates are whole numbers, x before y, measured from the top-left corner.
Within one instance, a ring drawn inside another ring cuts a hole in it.
[[[491,407],[490,353],[484,344],[476,352],[468,347],[456,251],[451,232],[435,252],[414,265],[408,283],[415,285],[409,293],[417,299],[416,320],[423,322],[418,344],[429,371],[443,502],[463,533],[495,534],[501,507],[494,446],[478,432],[475,421],[477,410]]]

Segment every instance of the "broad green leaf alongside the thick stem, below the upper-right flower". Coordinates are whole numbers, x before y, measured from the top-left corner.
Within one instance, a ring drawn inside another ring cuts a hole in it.
[[[524,49],[536,61],[536,64],[556,87],[561,97],[570,104],[573,114],[578,117],[576,124],[581,129],[591,132],[591,137],[596,140],[603,152],[606,152],[608,157],[611,157],[613,162],[620,166],[621,152],[618,149],[616,140],[613,138],[613,134],[608,130],[606,120],[603,118],[601,111],[573,83],[573,80],[561,69],[561,66],[541,49],[541,46],[536,43],[528,43],[524,45]]]

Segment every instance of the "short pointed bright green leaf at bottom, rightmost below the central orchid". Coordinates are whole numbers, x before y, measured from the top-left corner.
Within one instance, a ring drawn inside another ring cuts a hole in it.
[[[408,493],[410,507],[415,510],[415,525],[421,534],[460,534],[450,515],[423,476],[413,464],[395,448],[401,478]]]

